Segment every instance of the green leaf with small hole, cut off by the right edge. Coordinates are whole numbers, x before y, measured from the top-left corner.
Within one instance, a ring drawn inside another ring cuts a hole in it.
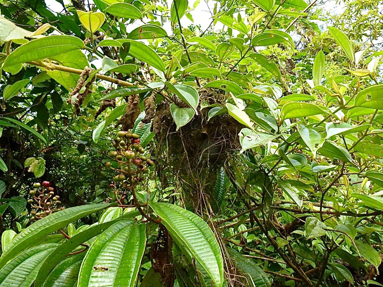
[[[354,106],[383,109],[383,85],[369,86],[357,93]]]

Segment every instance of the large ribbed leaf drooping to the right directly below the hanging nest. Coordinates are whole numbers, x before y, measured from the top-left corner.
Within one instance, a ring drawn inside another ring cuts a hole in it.
[[[161,218],[169,234],[180,248],[195,259],[197,268],[206,273],[205,284],[223,284],[223,259],[210,227],[198,215],[173,204],[151,202],[150,207]]]

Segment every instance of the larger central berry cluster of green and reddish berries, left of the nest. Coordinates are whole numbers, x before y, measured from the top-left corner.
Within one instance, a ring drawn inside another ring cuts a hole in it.
[[[111,167],[110,161],[105,166],[119,174],[113,177],[113,181],[124,181],[126,177],[132,177],[133,182],[142,180],[142,175],[149,172],[149,167],[154,166],[154,162],[142,155],[145,153],[141,147],[139,135],[130,132],[119,131],[113,146],[116,150],[109,153],[117,161],[119,168]]]

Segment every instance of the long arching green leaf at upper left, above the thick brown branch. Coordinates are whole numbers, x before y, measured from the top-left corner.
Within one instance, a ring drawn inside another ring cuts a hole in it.
[[[22,63],[41,60],[76,49],[83,49],[81,39],[67,35],[52,35],[32,40],[21,45],[5,59],[3,69],[6,72],[17,73]]]

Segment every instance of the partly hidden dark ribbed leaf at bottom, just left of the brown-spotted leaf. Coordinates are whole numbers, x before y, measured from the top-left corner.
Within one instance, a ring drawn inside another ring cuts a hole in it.
[[[77,286],[77,278],[79,277],[80,266],[84,256],[85,252],[66,258],[53,269],[42,287]]]

